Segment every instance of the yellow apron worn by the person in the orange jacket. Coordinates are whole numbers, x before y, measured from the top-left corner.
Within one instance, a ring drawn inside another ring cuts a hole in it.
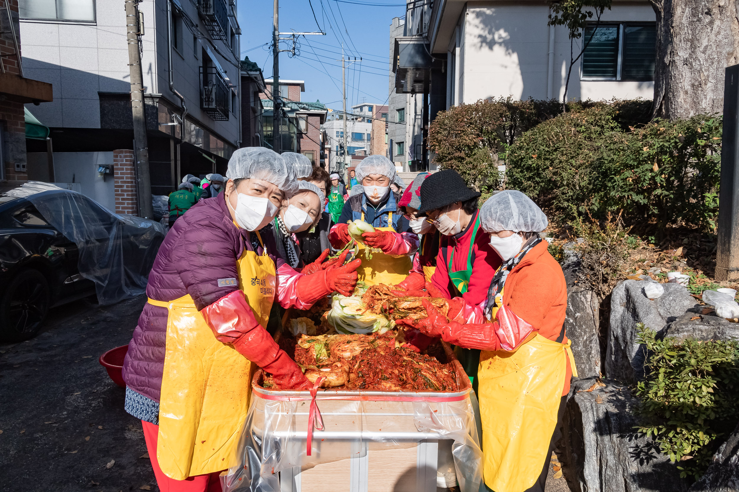
[[[483,477],[495,492],[522,492],[548,459],[570,342],[531,334],[515,352],[483,351],[477,368],[483,424]]]

